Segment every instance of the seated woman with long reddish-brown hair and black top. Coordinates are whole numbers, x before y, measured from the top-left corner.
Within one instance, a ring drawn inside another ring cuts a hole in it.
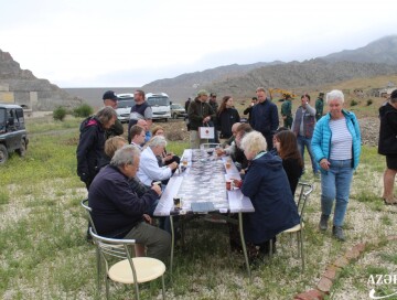
[[[297,136],[290,130],[283,130],[275,135],[273,142],[278,156],[282,159],[292,195],[297,190],[298,181],[303,172],[302,157],[298,150]]]

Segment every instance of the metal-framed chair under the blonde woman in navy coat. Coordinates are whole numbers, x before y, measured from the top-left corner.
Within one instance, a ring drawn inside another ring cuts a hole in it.
[[[307,202],[309,200],[309,195],[313,191],[313,184],[299,182],[298,186],[300,186],[299,200],[298,200],[298,213],[300,216],[300,223],[296,226],[283,231],[282,233],[297,234],[297,244],[298,244],[298,257],[300,256],[302,259],[302,271],[304,271],[304,251],[303,251],[303,228],[304,228],[304,208]],[[281,233],[281,234],[282,234]],[[270,255],[272,254],[272,245],[270,243]]]

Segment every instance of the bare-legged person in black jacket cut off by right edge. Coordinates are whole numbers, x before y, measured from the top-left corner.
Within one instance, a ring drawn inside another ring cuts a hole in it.
[[[393,192],[397,173],[397,89],[391,92],[389,100],[379,108],[379,118],[378,153],[386,156],[383,200],[386,205],[396,205]]]

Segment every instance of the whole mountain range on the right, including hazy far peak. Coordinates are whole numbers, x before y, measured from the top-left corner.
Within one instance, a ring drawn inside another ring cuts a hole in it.
[[[219,95],[250,97],[258,86],[307,90],[356,77],[396,73],[397,35],[390,35],[357,50],[345,50],[310,61],[221,66],[155,81],[142,88],[146,92],[165,92],[181,103],[194,97],[201,88]]]

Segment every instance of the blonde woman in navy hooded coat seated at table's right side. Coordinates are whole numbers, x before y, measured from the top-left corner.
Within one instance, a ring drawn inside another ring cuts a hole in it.
[[[300,223],[297,204],[279,157],[266,151],[267,143],[258,131],[246,133],[240,143],[250,161],[240,189],[255,207],[244,214],[244,234],[251,260],[269,253],[270,242],[276,249],[276,235]]]

